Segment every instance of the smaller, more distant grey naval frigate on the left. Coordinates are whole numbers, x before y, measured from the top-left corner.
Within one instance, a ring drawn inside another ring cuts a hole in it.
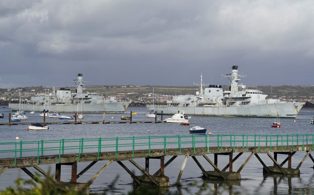
[[[73,82],[77,85],[75,93],[71,93],[70,89],[60,88],[55,93],[32,97],[27,100],[23,106],[24,111],[58,111],[58,112],[77,112],[81,109],[83,112],[106,112],[106,113],[124,113],[131,102],[117,101],[115,97],[106,99],[99,93],[83,93],[83,74],[78,74],[78,78]],[[82,106],[83,104],[83,106]],[[79,106],[78,106],[79,105]],[[12,111],[19,110],[19,104],[9,104]],[[82,108],[81,108],[82,107]]]

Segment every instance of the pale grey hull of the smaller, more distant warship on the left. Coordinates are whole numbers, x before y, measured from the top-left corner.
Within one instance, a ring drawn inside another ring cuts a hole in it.
[[[106,113],[124,113],[131,102],[109,102],[109,103],[100,103],[100,104],[86,104],[83,105],[83,112],[97,113],[97,112],[106,112]],[[19,104],[9,104],[9,107],[12,111],[19,110]],[[25,110],[24,110],[25,108]],[[34,111],[41,112],[44,109],[49,111],[58,111],[58,112],[77,112],[77,105],[34,105]],[[23,106],[24,111],[32,111],[33,105]],[[81,111],[81,106],[79,106],[79,111]]]

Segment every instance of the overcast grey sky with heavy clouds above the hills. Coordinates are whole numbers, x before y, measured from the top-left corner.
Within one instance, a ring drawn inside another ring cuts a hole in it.
[[[313,85],[314,1],[1,0],[0,87]]]

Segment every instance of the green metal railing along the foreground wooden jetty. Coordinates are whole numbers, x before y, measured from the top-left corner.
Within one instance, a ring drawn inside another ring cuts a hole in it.
[[[209,153],[210,147],[244,147],[248,151],[248,147],[268,146],[270,151],[273,146],[281,146],[283,151],[284,146],[312,145],[314,149],[314,134],[295,134],[295,135],[175,135],[175,136],[140,136],[140,137],[115,137],[115,138],[80,138],[80,139],[57,139],[57,140],[40,140],[40,141],[17,141],[0,143],[0,154],[7,153],[5,157],[2,154],[1,158],[15,158],[23,156],[37,156],[37,164],[39,164],[40,156],[59,154],[59,162],[62,154],[67,151],[68,154],[78,153],[78,161],[81,159],[81,154],[84,152],[97,153],[97,160],[101,152],[114,152],[115,158],[119,151],[137,149],[147,149],[150,156],[151,149],[163,149],[164,154],[167,154],[167,149],[177,148],[181,154],[182,148],[205,147]],[[36,153],[37,152],[37,153]]]

